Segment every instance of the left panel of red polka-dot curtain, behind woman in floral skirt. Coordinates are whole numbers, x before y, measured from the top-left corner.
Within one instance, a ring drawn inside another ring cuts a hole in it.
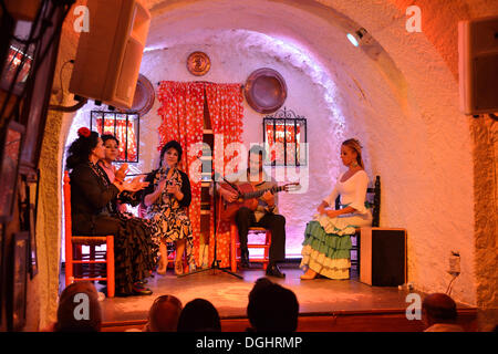
[[[189,174],[190,166],[201,155],[189,152],[194,144],[203,142],[204,119],[204,84],[196,82],[163,81],[158,88],[158,100],[162,106],[158,114],[163,122],[158,128],[158,150],[169,140],[181,144],[184,154],[179,168]],[[191,204],[189,218],[194,233],[194,257],[199,263],[199,236],[200,236],[200,178],[189,176],[191,186]]]

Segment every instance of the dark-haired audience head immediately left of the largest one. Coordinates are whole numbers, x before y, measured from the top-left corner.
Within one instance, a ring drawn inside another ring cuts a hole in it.
[[[195,299],[181,310],[178,332],[221,332],[221,321],[216,308],[207,300]]]

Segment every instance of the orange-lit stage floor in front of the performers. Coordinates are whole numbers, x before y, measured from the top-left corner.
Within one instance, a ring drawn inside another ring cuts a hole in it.
[[[336,311],[371,312],[375,310],[405,310],[407,292],[396,288],[370,287],[357,279],[352,280],[300,280],[302,271],[297,264],[286,264],[281,269],[286,279],[271,278],[282,287],[294,291],[299,301],[299,312],[330,313]],[[205,271],[177,278],[168,269],[165,275],[149,278],[149,296],[105,299],[104,322],[146,320],[152,303],[158,295],[172,294],[185,305],[190,300],[204,298],[218,310],[221,317],[246,317],[248,294],[258,278],[264,277],[261,268],[241,271],[243,280],[221,271]],[[97,285],[97,289],[102,285]]]

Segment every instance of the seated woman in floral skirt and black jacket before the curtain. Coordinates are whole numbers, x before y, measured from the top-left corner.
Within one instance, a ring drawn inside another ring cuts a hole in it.
[[[166,273],[167,242],[176,243],[175,273],[184,272],[181,257],[186,254],[190,270],[195,268],[193,257],[193,231],[188,218],[191,201],[190,181],[187,174],[178,169],[181,145],[168,142],[160,150],[159,168],[145,178],[151,185],[144,190],[146,218],[151,220],[153,237],[159,243],[162,263],[157,272]]]

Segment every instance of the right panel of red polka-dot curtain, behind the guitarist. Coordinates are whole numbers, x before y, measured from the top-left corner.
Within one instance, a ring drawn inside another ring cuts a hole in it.
[[[217,156],[224,154],[222,171],[216,173],[226,175],[231,173],[227,170],[228,163],[238,158],[237,153],[229,154],[227,146],[231,143],[241,143],[242,136],[242,92],[239,84],[206,84],[206,100],[209,108],[209,116],[211,119],[212,133],[215,134],[215,150],[212,152],[212,166],[217,167]],[[222,146],[217,146],[222,144]],[[220,160],[220,159],[219,159]],[[211,214],[211,230],[215,220]],[[228,222],[221,222],[217,228],[217,259],[220,260],[220,267],[226,268],[230,266],[230,228]],[[209,238],[209,264],[214,259],[215,240],[214,233],[210,232]]]

